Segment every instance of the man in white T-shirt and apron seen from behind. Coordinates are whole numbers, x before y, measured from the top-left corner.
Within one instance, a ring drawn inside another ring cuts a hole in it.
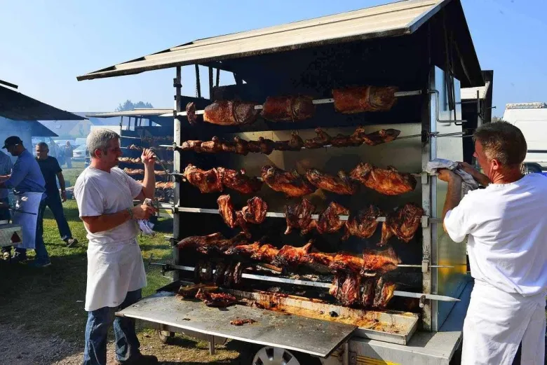
[[[449,170],[440,170],[438,176],[448,182],[445,231],[455,242],[468,235],[475,279],[461,364],[511,365],[522,343],[520,364],[543,365],[547,178],[522,176],[527,144],[514,125],[482,125],[474,139],[474,156],[485,174],[462,167],[486,188],[461,199],[461,178]]]

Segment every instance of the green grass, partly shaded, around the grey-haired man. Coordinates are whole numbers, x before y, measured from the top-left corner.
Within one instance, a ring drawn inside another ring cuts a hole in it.
[[[65,177],[76,181],[83,163],[64,170]],[[87,312],[83,310],[86,297],[87,239],[79,219],[75,200],[64,203],[65,216],[72,235],[79,240],[74,248],[65,247],[60,239],[57,223],[49,209],[43,220],[46,248],[51,256],[49,268],[31,268],[26,264],[0,261],[0,323],[23,326],[28,331],[55,334],[67,340],[83,343]],[[154,261],[170,259],[172,251],[163,235],[172,234],[172,221],[163,219],[154,230],[155,237],[139,237],[145,266],[150,256]],[[34,256],[34,251],[29,251]],[[170,280],[161,276],[158,266],[146,266],[148,286],[143,296],[153,293]]]

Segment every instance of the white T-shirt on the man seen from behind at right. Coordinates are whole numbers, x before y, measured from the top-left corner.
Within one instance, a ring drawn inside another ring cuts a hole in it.
[[[470,191],[447,213],[455,242],[468,237],[471,275],[506,293],[547,290],[547,178],[529,174],[511,184]]]

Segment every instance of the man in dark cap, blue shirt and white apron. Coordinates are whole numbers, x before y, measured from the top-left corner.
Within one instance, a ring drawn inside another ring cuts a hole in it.
[[[38,163],[17,136],[11,136],[4,142],[12,156],[17,156],[11,175],[0,177],[0,188],[13,188],[15,211],[13,223],[22,228],[22,244],[15,248],[11,262],[27,260],[27,249],[34,249],[36,259],[32,266],[50,266],[46,245],[43,242],[43,220],[40,205],[46,198],[46,182]]]

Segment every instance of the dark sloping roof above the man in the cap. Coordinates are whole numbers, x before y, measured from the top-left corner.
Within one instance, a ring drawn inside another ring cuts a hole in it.
[[[0,86],[0,116],[12,120],[85,119],[3,86]]]

